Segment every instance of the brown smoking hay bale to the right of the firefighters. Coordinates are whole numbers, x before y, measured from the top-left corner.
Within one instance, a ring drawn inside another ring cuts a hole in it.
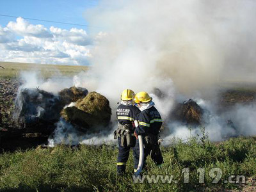
[[[201,125],[203,109],[195,102],[189,99],[183,104],[177,104],[172,112],[172,120],[184,122],[187,125]]]

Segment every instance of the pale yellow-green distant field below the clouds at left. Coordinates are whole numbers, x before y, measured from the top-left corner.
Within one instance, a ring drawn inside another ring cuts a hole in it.
[[[2,61],[0,61],[0,66],[0,78],[19,77],[21,71],[36,71],[40,72],[43,77],[51,77],[58,74],[74,76],[74,74],[88,70],[88,67],[86,66],[11,63]]]

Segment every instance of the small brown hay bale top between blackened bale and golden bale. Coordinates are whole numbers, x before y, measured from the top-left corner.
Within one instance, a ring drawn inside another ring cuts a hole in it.
[[[59,92],[60,100],[64,105],[70,104],[70,102],[76,102],[78,99],[83,99],[87,94],[88,90],[76,86],[65,88]]]

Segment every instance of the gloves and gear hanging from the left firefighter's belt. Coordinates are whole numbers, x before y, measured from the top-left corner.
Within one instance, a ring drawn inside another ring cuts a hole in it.
[[[122,147],[134,147],[136,143],[136,138],[133,136],[133,132],[131,131],[131,125],[121,125],[118,124],[118,129],[114,132],[114,139],[118,137],[121,138],[121,146]]]

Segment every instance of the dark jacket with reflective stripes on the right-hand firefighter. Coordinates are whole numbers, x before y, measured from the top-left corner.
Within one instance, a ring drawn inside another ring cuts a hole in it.
[[[161,115],[154,106],[141,111],[138,121],[139,126],[136,127],[135,132],[143,136],[159,134],[159,129],[163,124]]]

